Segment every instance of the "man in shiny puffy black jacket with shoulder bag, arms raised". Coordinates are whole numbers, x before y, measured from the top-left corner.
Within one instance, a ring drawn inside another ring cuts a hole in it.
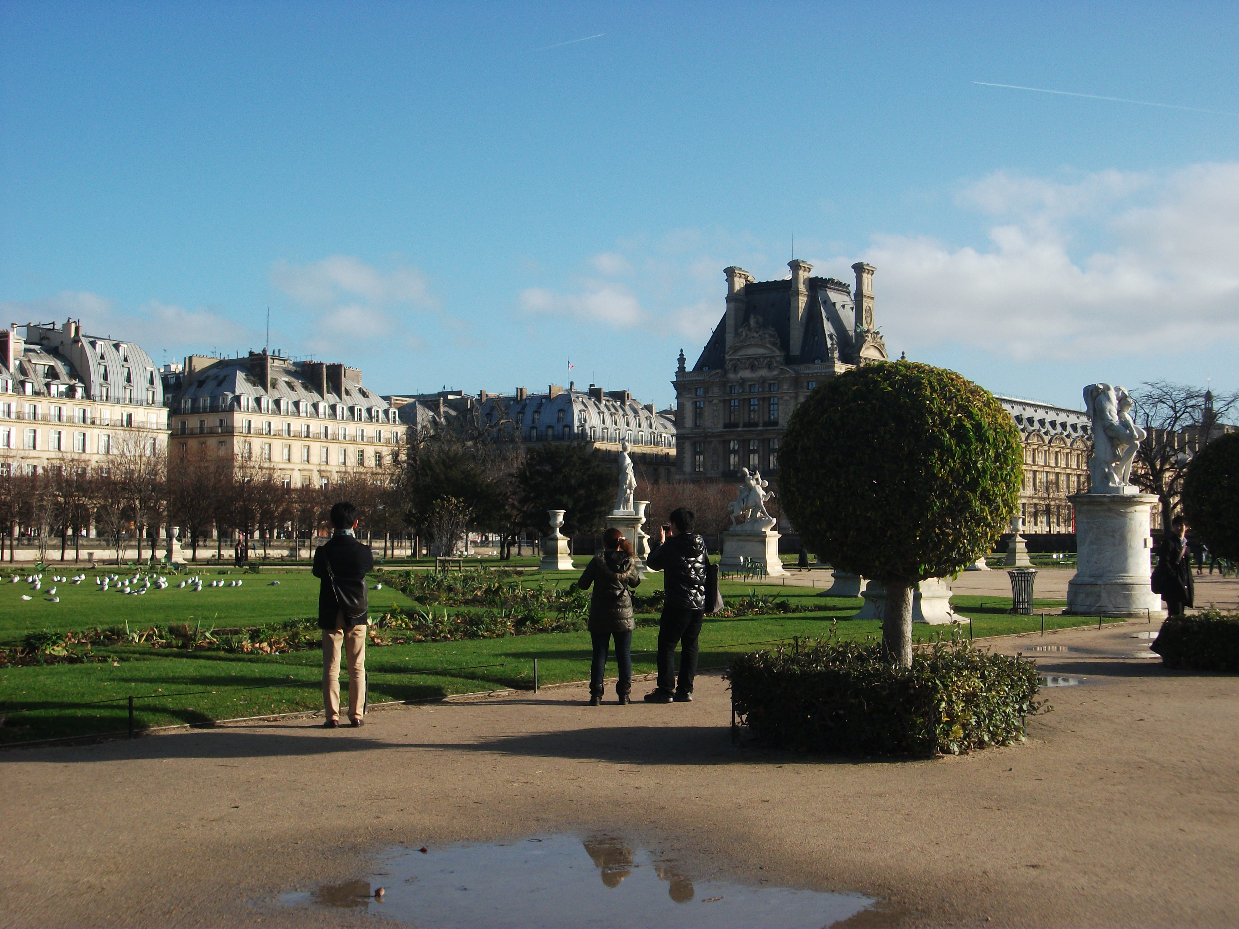
[[[668,535],[668,529],[670,535]],[[658,547],[646,564],[663,572],[667,601],[658,621],[658,686],[647,704],[686,704],[696,676],[698,637],[705,616],[705,569],[710,562],[705,539],[693,533],[693,510],[673,510],[669,526],[659,526]],[[680,647],[680,676],[675,678],[675,647]]]

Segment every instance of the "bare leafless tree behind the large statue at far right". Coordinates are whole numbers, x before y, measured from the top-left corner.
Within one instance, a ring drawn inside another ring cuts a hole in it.
[[[1239,394],[1206,394],[1168,380],[1151,380],[1132,391],[1139,422],[1149,435],[1136,452],[1131,479],[1146,493],[1157,494],[1162,528],[1178,508],[1188,460],[1239,404]]]

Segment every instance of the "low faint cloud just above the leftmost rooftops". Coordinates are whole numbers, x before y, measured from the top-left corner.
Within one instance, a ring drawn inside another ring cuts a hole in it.
[[[156,360],[162,349],[173,355],[212,347],[230,349],[244,344],[254,334],[208,307],[188,310],[151,300],[130,311],[89,291],[62,291],[40,300],[0,302],[0,316],[17,323],[81,320],[87,334],[136,342]]]

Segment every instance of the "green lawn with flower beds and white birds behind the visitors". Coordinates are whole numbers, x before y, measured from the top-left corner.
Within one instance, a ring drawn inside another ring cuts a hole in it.
[[[213,578],[221,575],[203,576]],[[110,591],[100,593],[93,578],[88,578],[81,587],[71,586],[61,603],[45,603],[41,597],[20,601],[22,592],[32,596],[27,591],[28,585],[2,582],[0,630],[5,638],[16,640],[28,630],[112,626],[125,619],[130,626],[196,622],[198,618],[204,624],[237,626],[315,613],[318,581],[305,572],[233,572],[223,577],[244,577],[245,583],[239,588],[203,588],[201,593],[170,588],[134,597]],[[514,582],[566,583],[575,577],[574,572],[554,572]],[[280,586],[266,586],[271,580],[279,580]],[[47,586],[45,583],[45,588]],[[662,576],[653,575],[642,588],[648,591],[659,586]],[[813,588],[778,585],[725,582],[722,590],[725,597],[751,591],[772,593],[814,609],[736,619],[707,618],[701,632],[701,668],[725,666],[735,655],[767,647],[771,640],[790,644],[793,637],[817,638],[829,632],[833,619],[840,621],[836,627],[840,638],[864,639],[880,634],[876,622],[847,619],[860,608],[859,598],[824,598],[818,597],[820,591]],[[387,608],[389,601],[409,604],[403,595],[387,586],[380,593],[372,593],[372,598],[377,609]],[[955,597],[954,603],[963,616],[971,618],[976,637],[1040,629],[1041,617],[1007,616],[1009,600]],[[1036,602],[1037,608],[1056,606],[1063,603]],[[1052,616],[1046,618],[1046,628],[1089,622],[1080,617]],[[966,627],[968,623],[964,624],[965,634]],[[914,632],[918,637],[930,638],[944,630],[942,627],[918,626]],[[657,628],[637,629],[633,637],[636,674],[654,670],[657,637]],[[124,697],[129,695],[150,697],[135,701],[135,718],[140,728],[321,707],[321,659],[316,650],[238,655],[115,645],[97,649],[95,655],[107,660],[0,670],[0,713],[6,715],[5,725],[0,727],[0,743],[121,731],[128,725],[128,701]],[[541,684],[587,679],[590,637],[587,633],[558,633],[473,642],[372,645],[367,655],[369,699],[370,702],[380,702],[501,687],[527,689],[533,686],[534,659],[538,659]],[[611,674],[615,674],[613,668],[612,659]],[[637,685],[638,692],[643,686]],[[121,700],[83,706],[114,697]]]

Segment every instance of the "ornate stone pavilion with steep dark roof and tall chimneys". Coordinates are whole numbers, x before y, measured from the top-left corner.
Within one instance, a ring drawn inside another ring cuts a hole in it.
[[[675,373],[676,469],[690,479],[778,473],[787,421],[819,383],[886,359],[873,316],[873,268],[857,263],[856,290],[793,260],[792,276],[755,281],[727,268],[726,312],[691,369]]]

